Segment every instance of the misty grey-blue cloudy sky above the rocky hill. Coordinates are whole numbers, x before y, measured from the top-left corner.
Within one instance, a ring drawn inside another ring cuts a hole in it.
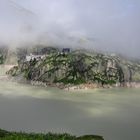
[[[140,1],[0,0],[0,43],[81,47],[140,58]]]

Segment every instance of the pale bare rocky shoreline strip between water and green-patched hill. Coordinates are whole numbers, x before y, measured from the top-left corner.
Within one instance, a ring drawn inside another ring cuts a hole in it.
[[[89,89],[100,89],[100,88],[140,88],[140,83],[139,82],[131,82],[131,83],[125,83],[123,86],[120,85],[119,83],[113,84],[113,85],[101,85],[97,83],[84,83],[84,84],[79,84],[79,85],[74,85],[74,84],[64,84],[64,83],[45,83],[42,81],[29,81],[23,78],[22,76],[16,76],[12,77],[9,75],[1,75],[0,76],[1,81],[12,81],[12,82],[18,82],[18,83],[25,83],[25,84],[30,84],[32,86],[39,86],[39,87],[56,87],[62,90],[66,91],[73,91],[73,90],[89,90]]]

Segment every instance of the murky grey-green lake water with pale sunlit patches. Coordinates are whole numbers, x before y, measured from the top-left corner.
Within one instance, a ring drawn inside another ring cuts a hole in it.
[[[1,77],[5,67],[0,67]],[[0,128],[140,140],[140,89],[63,91],[0,79]]]

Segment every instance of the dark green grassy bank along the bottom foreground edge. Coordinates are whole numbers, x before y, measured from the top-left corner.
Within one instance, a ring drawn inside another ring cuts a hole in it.
[[[69,134],[35,134],[0,130],[0,140],[103,140],[101,136],[71,136]]]

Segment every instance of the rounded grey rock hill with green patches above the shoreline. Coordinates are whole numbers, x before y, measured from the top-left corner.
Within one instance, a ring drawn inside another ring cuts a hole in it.
[[[120,86],[135,81],[140,74],[140,65],[123,58],[99,53],[70,52],[52,53],[40,60],[19,62],[8,74],[23,75],[27,80],[49,85],[81,85],[86,83]],[[63,85],[63,86],[62,86]],[[109,87],[109,86],[108,86]]]

